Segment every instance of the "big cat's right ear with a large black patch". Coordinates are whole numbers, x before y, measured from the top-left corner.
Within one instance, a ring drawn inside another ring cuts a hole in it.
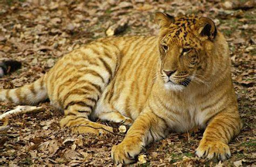
[[[217,28],[212,21],[207,17],[201,17],[196,24],[196,31],[199,36],[208,36],[210,40],[213,40],[217,35]]]

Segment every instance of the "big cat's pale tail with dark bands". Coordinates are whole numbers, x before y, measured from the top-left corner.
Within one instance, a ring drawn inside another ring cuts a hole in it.
[[[35,104],[47,99],[45,78],[46,76],[42,76],[34,83],[19,88],[0,89],[0,101],[8,101],[15,104]]]

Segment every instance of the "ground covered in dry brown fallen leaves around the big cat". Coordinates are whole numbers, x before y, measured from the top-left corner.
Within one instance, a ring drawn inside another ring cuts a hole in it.
[[[156,35],[155,12],[170,15],[194,13],[210,17],[230,46],[232,79],[239,102],[243,129],[230,143],[232,157],[225,162],[194,157],[203,131],[171,134],[143,153],[146,161],[135,166],[239,166],[255,165],[255,1],[5,0],[0,2],[0,58],[22,62],[22,68],[0,79],[0,88],[15,88],[43,76],[65,53],[106,36],[116,22],[126,26],[119,35]],[[253,57],[254,56],[254,57]],[[112,166],[110,150],[124,134],[94,136],[60,129],[62,113],[49,102],[37,114],[13,116],[11,129],[0,132],[0,165]],[[0,102],[0,114],[15,105]],[[108,123],[109,124],[109,123]],[[0,124],[1,125],[1,124]]]

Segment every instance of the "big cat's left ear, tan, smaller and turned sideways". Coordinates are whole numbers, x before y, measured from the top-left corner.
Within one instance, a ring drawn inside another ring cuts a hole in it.
[[[160,28],[167,28],[175,21],[175,17],[168,15],[167,13],[157,12],[155,13],[155,20]]]

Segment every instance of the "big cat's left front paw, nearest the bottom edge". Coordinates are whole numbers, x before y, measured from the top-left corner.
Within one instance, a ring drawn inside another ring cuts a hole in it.
[[[140,154],[142,148],[142,142],[122,141],[112,147],[111,157],[115,164],[130,164],[135,161],[136,155]]]

